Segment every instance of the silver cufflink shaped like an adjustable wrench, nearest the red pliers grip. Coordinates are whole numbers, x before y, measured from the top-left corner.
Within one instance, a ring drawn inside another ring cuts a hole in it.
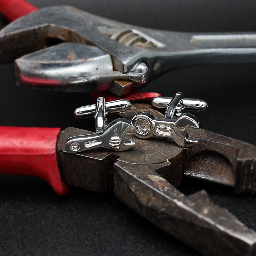
[[[118,118],[107,125],[108,112],[122,112],[131,106],[128,100],[115,100],[105,103],[103,97],[97,99],[96,105],[84,106],[75,110],[78,117],[95,113],[95,133],[68,138],[66,150],[69,153],[82,152],[92,148],[108,148],[124,151],[132,148],[134,140],[126,138],[126,134],[136,133],[130,121]]]

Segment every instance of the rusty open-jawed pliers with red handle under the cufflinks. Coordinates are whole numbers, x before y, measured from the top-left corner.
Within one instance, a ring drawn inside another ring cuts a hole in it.
[[[133,103],[120,115],[131,120],[141,111],[163,116],[147,103]],[[0,170],[43,178],[60,195],[70,186],[97,192],[112,189],[134,211],[205,255],[255,255],[253,230],[212,204],[205,191],[184,196],[176,187],[186,175],[255,193],[256,148],[197,127],[187,127],[187,132],[198,139],[190,148],[170,138],[133,137],[135,145],[128,151],[69,153],[68,138],[92,132],[2,127]]]

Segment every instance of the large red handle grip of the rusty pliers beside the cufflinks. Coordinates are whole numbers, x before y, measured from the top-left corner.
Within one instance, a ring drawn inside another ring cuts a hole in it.
[[[65,195],[56,156],[60,128],[0,127],[0,174],[32,175]]]

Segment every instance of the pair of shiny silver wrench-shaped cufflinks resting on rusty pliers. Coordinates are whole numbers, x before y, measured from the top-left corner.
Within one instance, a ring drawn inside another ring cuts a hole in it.
[[[95,133],[68,138],[66,150],[69,153],[82,152],[92,148],[108,148],[124,151],[135,145],[135,140],[126,137],[135,134],[147,139],[152,136],[171,138],[181,147],[190,147],[198,140],[189,137],[187,127],[199,128],[197,118],[188,110],[204,110],[207,103],[204,100],[185,99],[183,93],[178,92],[173,98],[156,97],[152,100],[156,108],[166,108],[164,117],[158,118],[148,112],[141,112],[132,118],[132,122],[118,118],[108,124],[108,113],[124,112],[132,106],[129,100],[114,100],[105,102],[103,97],[97,99],[96,104],[83,106],[75,110],[76,117],[86,117],[94,114]]]

